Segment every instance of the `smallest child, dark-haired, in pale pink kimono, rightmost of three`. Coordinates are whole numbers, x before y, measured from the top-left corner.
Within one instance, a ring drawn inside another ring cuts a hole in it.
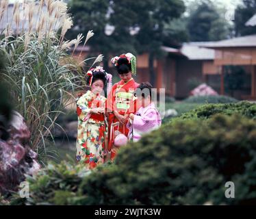
[[[144,134],[157,129],[162,124],[161,116],[151,101],[151,89],[151,83],[142,82],[136,90],[137,101],[142,107],[136,114],[129,115],[127,124],[128,138],[133,142],[137,142]]]

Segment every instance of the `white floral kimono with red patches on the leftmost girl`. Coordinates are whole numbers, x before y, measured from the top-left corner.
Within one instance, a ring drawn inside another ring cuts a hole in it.
[[[105,114],[90,114],[90,109],[105,107],[106,99],[90,90],[77,99],[77,161],[90,169],[104,162],[107,149],[107,118]],[[106,141],[105,141],[106,140]]]

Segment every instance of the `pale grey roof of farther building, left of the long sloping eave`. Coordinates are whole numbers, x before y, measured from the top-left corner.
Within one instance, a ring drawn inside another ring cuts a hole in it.
[[[179,54],[188,57],[188,60],[214,60],[214,49],[202,48],[206,42],[186,42],[180,49],[162,47],[168,53]]]

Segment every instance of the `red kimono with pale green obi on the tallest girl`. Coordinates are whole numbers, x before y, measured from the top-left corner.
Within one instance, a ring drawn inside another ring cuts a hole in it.
[[[114,142],[114,131],[118,129],[118,125],[114,126],[114,129],[111,130],[111,125],[118,122],[118,119],[114,115],[114,111],[117,111],[121,115],[135,113],[139,106],[136,105],[134,101],[133,92],[138,88],[140,84],[136,83],[133,78],[131,78],[126,83],[121,80],[118,83],[115,83],[112,87],[112,90],[107,97],[107,113],[108,113],[108,128],[109,128],[109,143],[108,150],[112,150],[112,145]],[[128,120],[127,120],[128,122]],[[121,133],[124,133],[125,136],[128,136],[129,129],[127,129],[126,124],[120,125],[118,129]],[[114,155],[111,155],[114,157]]]

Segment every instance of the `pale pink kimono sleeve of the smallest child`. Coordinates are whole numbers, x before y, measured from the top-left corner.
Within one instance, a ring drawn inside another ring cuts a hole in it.
[[[157,112],[154,109],[148,110],[142,116],[135,115],[133,119],[133,127],[140,131],[153,129],[156,125]]]

